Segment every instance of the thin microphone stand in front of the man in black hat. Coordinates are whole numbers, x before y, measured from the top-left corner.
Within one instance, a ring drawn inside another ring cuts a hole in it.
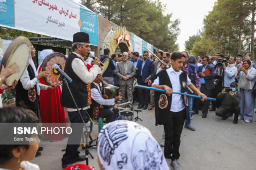
[[[79,112],[79,115],[80,115],[80,117],[81,117],[81,119],[82,119],[82,124],[84,124],[84,126],[85,126],[85,131],[84,131],[84,133],[82,133],[82,139],[84,140],[84,135],[85,135],[85,158],[86,158],[86,165],[88,165],[88,164],[89,164],[89,156],[88,156],[88,155],[90,154],[90,156],[92,156],[92,154],[91,154],[90,151],[89,151],[89,146],[87,145],[87,143],[88,143],[88,137],[90,137],[90,133],[89,133],[87,127],[86,127],[86,124],[85,124],[85,122],[84,122],[84,119],[82,118],[82,114],[80,113],[79,108],[77,107],[75,98],[73,97],[72,92],[71,92],[71,90],[70,90],[70,88],[69,88],[69,86],[68,86],[68,81],[67,81],[67,79],[65,78],[65,76],[62,76],[62,75],[60,76],[59,80],[61,80],[61,79],[63,80],[63,83],[67,86],[68,92],[69,92],[69,94],[71,95],[71,98],[72,98],[72,100],[73,100],[73,103],[74,103],[75,106],[76,106],[77,112]],[[92,137],[90,137],[90,139],[92,139]],[[93,156],[92,156],[92,159],[94,159]]]

